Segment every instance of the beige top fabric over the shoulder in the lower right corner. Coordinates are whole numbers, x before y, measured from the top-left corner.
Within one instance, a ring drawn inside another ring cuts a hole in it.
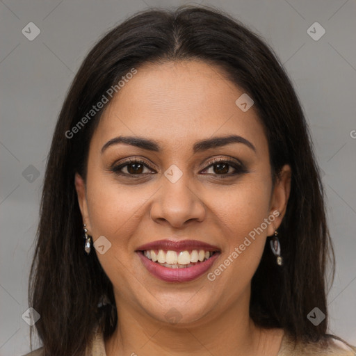
[[[356,356],[356,347],[334,335],[325,335],[316,342],[294,343],[287,334],[277,356]]]

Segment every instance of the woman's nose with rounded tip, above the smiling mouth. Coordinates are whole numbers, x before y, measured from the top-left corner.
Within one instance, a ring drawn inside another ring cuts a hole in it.
[[[189,183],[187,174],[174,183],[163,176],[162,186],[151,205],[152,220],[178,229],[193,221],[202,222],[206,209],[194,185]]]

